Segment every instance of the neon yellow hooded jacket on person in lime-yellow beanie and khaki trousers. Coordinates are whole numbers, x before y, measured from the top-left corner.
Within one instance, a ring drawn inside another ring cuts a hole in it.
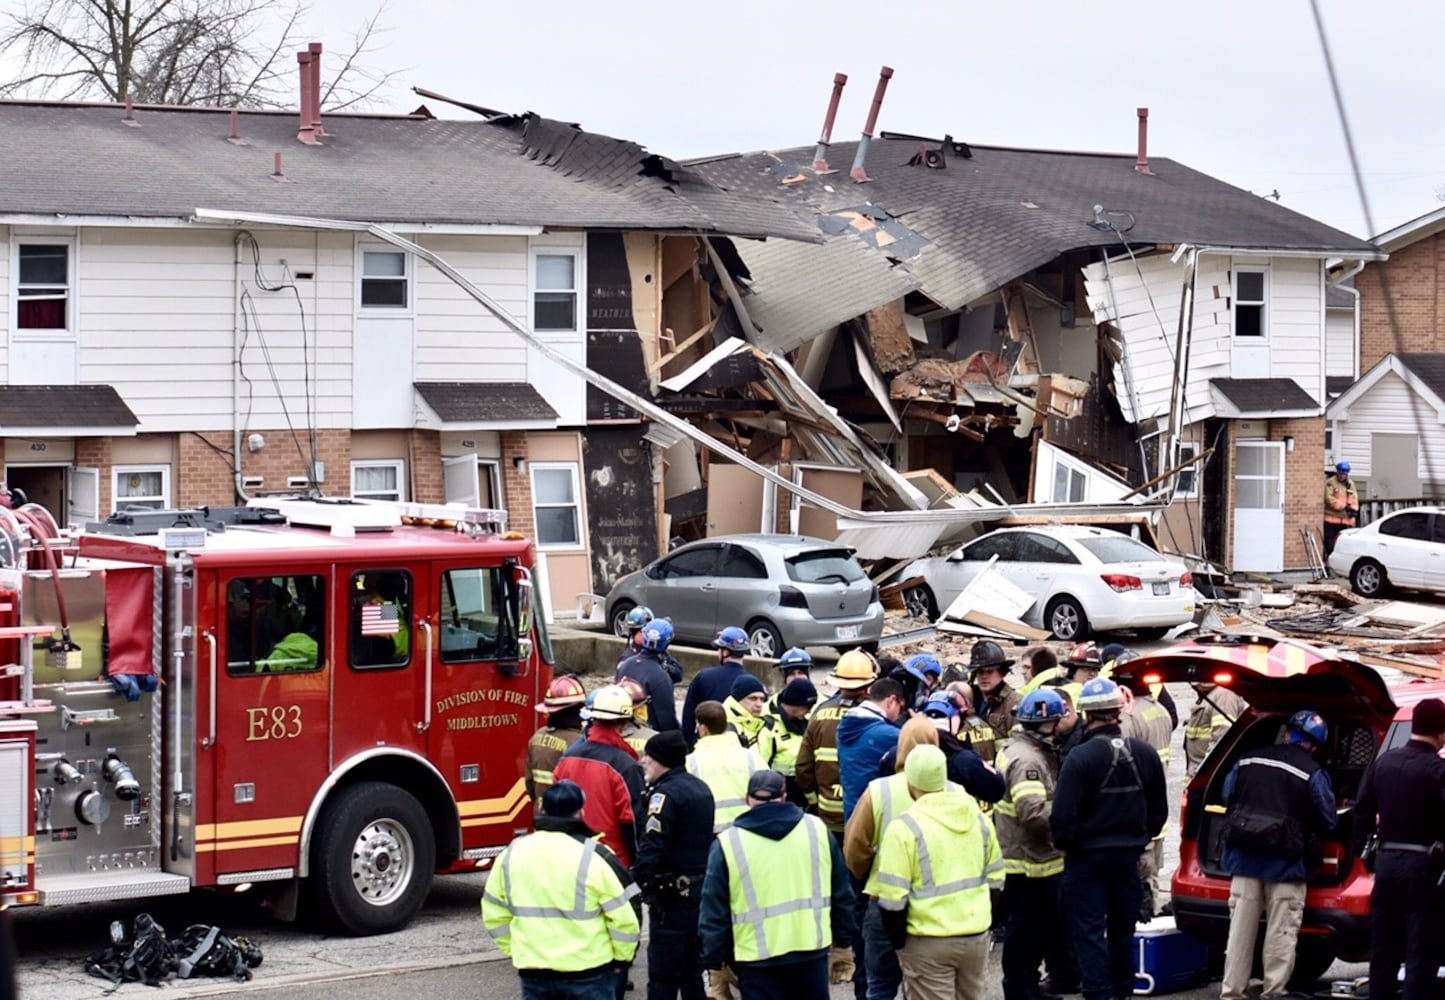
[[[988,929],[988,889],[1003,886],[993,822],[965,795],[929,792],[883,831],[877,900],[907,908],[907,932],[957,938]]]

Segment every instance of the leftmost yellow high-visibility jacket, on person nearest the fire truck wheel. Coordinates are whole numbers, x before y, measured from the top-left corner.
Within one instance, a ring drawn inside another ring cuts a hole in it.
[[[481,919],[519,971],[582,973],[631,961],[640,925],[595,840],[559,831],[520,837],[501,853],[481,895]],[[605,850],[605,848],[604,848]]]

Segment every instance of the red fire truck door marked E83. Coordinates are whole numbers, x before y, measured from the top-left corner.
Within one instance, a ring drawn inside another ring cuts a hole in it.
[[[201,871],[207,857],[217,874],[295,866],[302,819],[329,773],[337,658],[328,577],[314,565],[264,572],[223,571],[208,588],[214,624],[204,637],[214,637],[218,663],[212,744],[205,744],[210,723],[199,724],[201,760],[212,762],[214,783],[197,814]],[[201,643],[202,656],[208,645]]]

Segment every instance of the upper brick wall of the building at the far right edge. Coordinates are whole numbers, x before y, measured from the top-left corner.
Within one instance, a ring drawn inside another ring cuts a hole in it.
[[[1381,280],[1381,279],[1387,280]],[[1394,322],[1386,301],[1394,305]],[[1445,351],[1445,233],[1367,264],[1360,289],[1360,371],[1390,353]]]

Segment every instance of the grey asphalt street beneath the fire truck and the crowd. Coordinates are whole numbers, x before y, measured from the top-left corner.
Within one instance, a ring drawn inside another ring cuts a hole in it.
[[[1194,692],[1186,685],[1170,685],[1181,712],[1188,712]],[[1178,802],[1183,785],[1183,728],[1175,731],[1175,751],[1169,766],[1170,795]],[[1178,842],[1166,840],[1165,870],[1178,863]],[[289,925],[240,897],[220,897],[208,892],[133,903],[94,903],[55,909],[16,912],[20,945],[19,983],[26,1000],[90,1000],[110,990],[110,983],[85,974],[84,957],[107,944],[111,921],[131,921],[139,912],[152,913],[162,925],[181,931],[189,923],[218,923],[231,934],[241,934],[264,949],[264,962],[247,984],[230,981],[176,981],[162,997],[233,996],[257,993],[267,1000],[321,1000],[344,990],[348,1000],[400,996],[447,996],[509,999],[519,997],[516,975],[491,945],[478,919],[478,900],[484,874],[438,879],[422,913],[412,926],[376,938],[342,938],[305,925]],[[1003,996],[997,974],[998,954],[990,955],[987,1000]],[[1327,980],[1364,975],[1363,965],[1337,964]],[[637,990],[646,991],[646,971],[633,971]],[[126,984],[118,997],[155,997],[140,984]],[[835,987],[832,997],[848,997],[851,990]],[[1218,997],[1218,984],[1175,994],[1188,1000]],[[802,1000],[802,999],[801,999]]]

